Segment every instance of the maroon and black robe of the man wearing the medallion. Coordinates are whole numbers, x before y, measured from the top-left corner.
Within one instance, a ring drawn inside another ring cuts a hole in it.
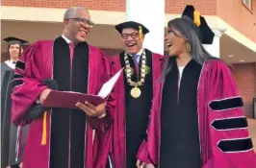
[[[145,83],[140,86],[141,96],[139,98],[131,96],[132,86],[127,84],[125,72],[115,84],[114,92],[117,102],[113,127],[113,146],[110,152],[115,168],[135,168],[136,154],[141,142],[146,138],[153,87],[157,82],[156,74],[161,72],[164,56],[154,54],[146,49],[145,54],[146,64],[150,68],[150,72],[145,77]],[[124,52],[110,57],[109,60],[112,66],[112,74],[125,66]],[[129,60],[130,65],[135,69],[132,81],[136,82],[135,63],[131,57],[129,57]],[[141,61],[139,66],[139,74],[141,74]]]

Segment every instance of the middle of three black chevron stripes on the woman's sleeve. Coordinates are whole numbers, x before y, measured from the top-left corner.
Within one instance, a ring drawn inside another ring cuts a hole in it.
[[[212,126],[218,131],[225,131],[231,129],[243,129],[248,127],[248,123],[245,117],[238,118],[225,118],[215,120]]]

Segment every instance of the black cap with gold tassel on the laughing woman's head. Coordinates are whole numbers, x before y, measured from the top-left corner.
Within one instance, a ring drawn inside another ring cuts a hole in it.
[[[188,16],[192,19],[196,27],[198,27],[200,34],[202,36],[201,42],[203,44],[212,44],[214,41],[215,34],[208,26],[205,18],[200,15],[200,12],[196,11],[193,6],[186,6],[182,16]]]

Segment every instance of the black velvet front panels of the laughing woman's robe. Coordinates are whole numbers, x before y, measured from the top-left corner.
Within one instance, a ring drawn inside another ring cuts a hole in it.
[[[166,75],[161,111],[161,168],[201,168],[197,116],[197,85],[202,66],[191,60],[178,89],[176,60]]]

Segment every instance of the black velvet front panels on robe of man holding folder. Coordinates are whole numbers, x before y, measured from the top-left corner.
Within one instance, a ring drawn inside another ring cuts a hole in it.
[[[72,66],[70,66],[69,46],[63,37],[58,37],[54,42],[53,56],[53,76],[58,84],[58,90],[86,93],[89,45],[86,42],[76,45]],[[68,168],[68,164],[71,168],[84,167],[85,126],[84,111],[69,108],[52,109],[51,168]]]

